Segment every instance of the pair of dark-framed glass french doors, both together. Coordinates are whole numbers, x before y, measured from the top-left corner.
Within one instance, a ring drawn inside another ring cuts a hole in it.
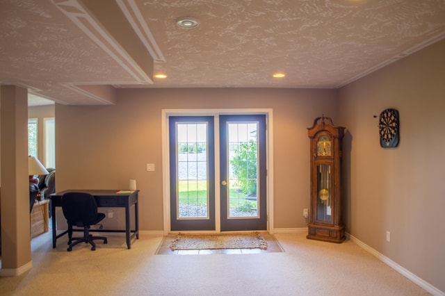
[[[221,231],[266,230],[266,115],[220,115],[217,122],[169,117],[170,229],[216,230],[217,216]]]

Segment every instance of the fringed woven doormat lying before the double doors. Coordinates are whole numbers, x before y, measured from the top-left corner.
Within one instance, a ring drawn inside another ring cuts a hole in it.
[[[183,234],[172,240],[170,249],[267,249],[260,233]]]

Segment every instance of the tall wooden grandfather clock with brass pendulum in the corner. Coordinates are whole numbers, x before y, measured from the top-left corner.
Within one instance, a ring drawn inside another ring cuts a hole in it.
[[[341,221],[341,142],[344,128],[330,117],[317,117],[308,128],[311,142],[311,208],[307,238],[345,240]]]

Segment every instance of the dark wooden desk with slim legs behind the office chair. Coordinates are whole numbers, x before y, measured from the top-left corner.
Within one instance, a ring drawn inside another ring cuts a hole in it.
[[[68,231],[63,231],[63,233],[57,234],[56,227],[56,206],[62,206],[62,196],[66,192],[87,192],[95,197],[98,208],[125,208],[125,230],[114,230],[114,229],[94,229],[97,232],[125,232],[127,238],[127,247],[131,248],[131,239],[136,236],[139,238],[139,219],[138,219],[138,192],[135,190],[133,192],[118,193],[119,190],[65,190],[62,192],[56,192],[49,195],[51,199],[51,210],[52,210],[52,226],[53,226],[53,247],[56,247],[56,240],[60,236],[64,236]],[[130,207],[134,205],[134,225],[135,229],[130,229]]]

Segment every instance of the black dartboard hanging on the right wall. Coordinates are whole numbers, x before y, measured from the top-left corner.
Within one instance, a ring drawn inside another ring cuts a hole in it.
[[[386,109],[380,113],[378,128],[380,133],[380,146],[397,147],[398,145],[398,110]]]

